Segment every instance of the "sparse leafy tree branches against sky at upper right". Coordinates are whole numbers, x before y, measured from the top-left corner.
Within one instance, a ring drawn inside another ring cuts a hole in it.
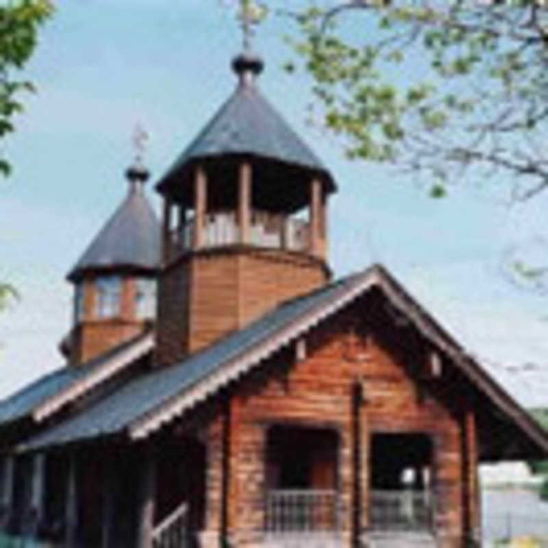
[[[349,158],[427,173],[431,195],[475,166],[548,186],[548,7],[540,0],[319,0],[290,12],[314,110]],[[478,172],[475,173],[479,175]]]

